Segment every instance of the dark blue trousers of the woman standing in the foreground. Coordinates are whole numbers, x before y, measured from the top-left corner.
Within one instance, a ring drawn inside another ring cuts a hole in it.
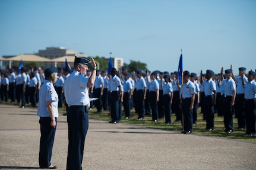
[[[55,128],[50,126],[50,117],[40,117],[40,148],[39,148],[39,166],[46,168],[50,165],[50,159],[52,158],[52,147],[54,143],[54,137],[57,127],[57,118],[55,117]]]

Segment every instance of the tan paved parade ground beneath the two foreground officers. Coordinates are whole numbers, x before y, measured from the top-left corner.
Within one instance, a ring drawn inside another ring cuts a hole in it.
[[[36,111],[0,104],[0,169],[38,169]],[[256,143],[102,120],[89,122],[83,169],[256,169]],[[67,117],[60,114],[52,165],[65,169],[67,149]]]

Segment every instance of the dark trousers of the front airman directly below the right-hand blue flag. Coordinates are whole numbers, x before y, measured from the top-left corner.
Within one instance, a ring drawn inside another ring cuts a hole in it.
[[[193,126],[193,110],[189,109],[191,98],[182,99],[182,114],[184,119],[184,131],[191,131]]]

